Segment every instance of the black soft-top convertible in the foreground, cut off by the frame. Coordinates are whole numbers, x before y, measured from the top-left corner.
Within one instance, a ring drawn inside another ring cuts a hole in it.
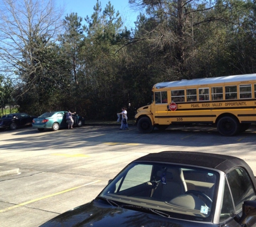
[[[256,180],[244,160],[167,151],[131,162],[92,201],[41,227],[256,226]]]

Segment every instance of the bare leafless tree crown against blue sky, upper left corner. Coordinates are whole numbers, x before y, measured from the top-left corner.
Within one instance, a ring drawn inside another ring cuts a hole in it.
[[[57,40],[62,29],[63,10],[54,0],[0,0],[0,72],[34,69],[34,45],[38,39]],[[26,64],[20,65],[19,62]]]

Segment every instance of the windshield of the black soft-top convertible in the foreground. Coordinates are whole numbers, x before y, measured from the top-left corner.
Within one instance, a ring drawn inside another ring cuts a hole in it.
[[[129,164],[99,195],[120,207],[146,208],[169,217],[211,222],[216,171],[162,163]]]

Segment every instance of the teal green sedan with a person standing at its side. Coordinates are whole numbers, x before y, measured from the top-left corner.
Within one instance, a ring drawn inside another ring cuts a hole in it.
[[[41,116],[34,118],[32,127],[33,129],[38,129],[39,131],[43,131],[45,129],[52,129],[53,131],[57,131],[60,128],[67,128],[67,120],[66,120],[67,111],[54,111],[54,112],[46,112]],[[74,120],[74,126],[82,126],[85,123],[83,117],[79,115],[72,115]]]

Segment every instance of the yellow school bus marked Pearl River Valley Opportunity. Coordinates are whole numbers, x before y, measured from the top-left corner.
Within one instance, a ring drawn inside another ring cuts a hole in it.
[[[233,136],[256,123],[256,74],[161,82],[152,91],[153,102],[135,115],[143,133],[171,124],[212,124]]]

